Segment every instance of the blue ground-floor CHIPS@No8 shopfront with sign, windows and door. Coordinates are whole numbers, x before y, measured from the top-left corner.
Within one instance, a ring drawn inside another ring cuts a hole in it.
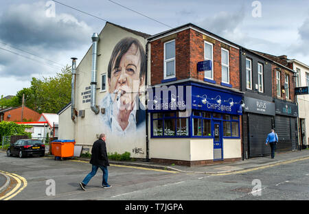
[[[169,143],[176,139],[187,139],[190,141],[190,145],[187,146],[190,150],[192,143],[197,141],[201,150],[205,150],[203,143],[211,143],[211,146],[207,147],[207,150],[212,150],[211,156],[203,156],[203,152],[195,155],[198,152],[192,150],[187,158],[189,160],[241,158],[242,93],[235,89],[185,82],[153,87],[149,91],[149,97],[152,141],[160,139]],[[233,141],[234,144],[231,143]],[[236,145],[237,148],[232,145]],[[195,149],[199,150],[198,147]]]

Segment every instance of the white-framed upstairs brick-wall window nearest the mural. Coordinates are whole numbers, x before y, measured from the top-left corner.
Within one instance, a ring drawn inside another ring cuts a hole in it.
[[[164,43],[164,79],[175,77],[175,40]]]

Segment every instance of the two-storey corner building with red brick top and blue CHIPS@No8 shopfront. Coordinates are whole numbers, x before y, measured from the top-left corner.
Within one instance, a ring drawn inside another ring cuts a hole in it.
[[[240,46],[191,23],[148,42],[151,160],[190,166],[240,160]]]

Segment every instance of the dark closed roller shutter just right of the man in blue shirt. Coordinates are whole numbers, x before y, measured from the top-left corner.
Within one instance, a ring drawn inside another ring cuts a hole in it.
[[[295,131],[291,129],[291,120],[293,120],[293,128],[295,129],[294,118],[285,116],[275,116],[275,132],[278,135],[279,143],[277,143],[277,151],[290,151],[295,147]],[[294,141],[294,142],[293,142]]]

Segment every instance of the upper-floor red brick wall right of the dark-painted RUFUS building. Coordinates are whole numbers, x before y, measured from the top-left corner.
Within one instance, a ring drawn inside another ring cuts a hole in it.
[[[282,69],[280,71],[280,84],[281,84],[281,97],[277,97],[277,70],[275,68],[277,67],[276,64],[271,64],[271,70],[273,71],[273,97],[283,100],[288,100],[290,102],[295,102],[295,80],[293,78],[294,73],[291,71],[287,71],[286,69]],[[282,87],[284,86],[285,82],[285,74],[289,75],[289,88],[290,88],[290,99],[286,99],[286,93],[282,93]]]

